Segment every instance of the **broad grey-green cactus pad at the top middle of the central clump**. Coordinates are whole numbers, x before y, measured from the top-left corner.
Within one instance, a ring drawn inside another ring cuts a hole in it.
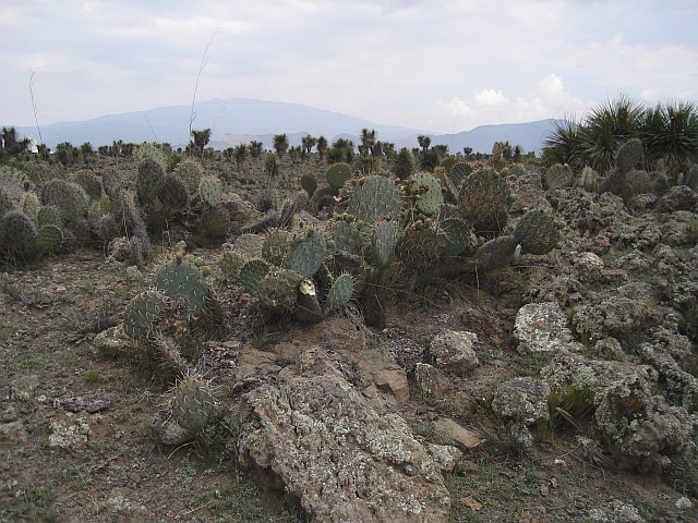
[[[385,177],[361,179],[349,196],[348,211],[357,220],[370,223],[383,215],[394,218],[400,211],[400,191]]]

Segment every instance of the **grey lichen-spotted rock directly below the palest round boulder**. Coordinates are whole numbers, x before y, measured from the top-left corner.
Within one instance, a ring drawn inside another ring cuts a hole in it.
[[[549,396],[549,385],[530,377],[509,379],[501,384],[494,393],[492,410],[506,419],[509,436],[525,449],[533,446],[529,427],[550,419]]]

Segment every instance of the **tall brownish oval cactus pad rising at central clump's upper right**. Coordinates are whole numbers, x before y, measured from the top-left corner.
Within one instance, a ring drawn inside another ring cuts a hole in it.
[[[458,209],[477,233],[497,233],[506,224],[509,194],[506,179],[492,169],[478,169],[460,184]]]

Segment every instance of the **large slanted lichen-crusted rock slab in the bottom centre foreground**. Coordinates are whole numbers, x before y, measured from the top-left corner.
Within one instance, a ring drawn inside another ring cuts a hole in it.
[[[262,428],[240,445],[313,521],[446,522],[440,466],[395,414],[380,415],[336,375],[297,377],[246,394]]]

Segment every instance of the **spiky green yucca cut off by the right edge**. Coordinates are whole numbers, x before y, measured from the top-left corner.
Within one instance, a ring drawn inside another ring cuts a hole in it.
[[[684,163],[698,158],[698,108],[689,101],[659,104],[645,112],[640,136],[649,162],[664,159],[667,173],[675,177]]]

